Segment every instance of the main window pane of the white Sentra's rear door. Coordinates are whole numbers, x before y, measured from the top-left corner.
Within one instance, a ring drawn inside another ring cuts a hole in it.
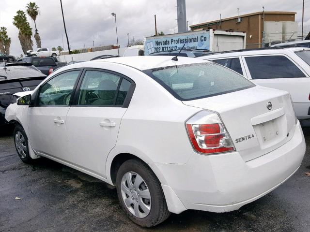
[[[79,90],[79,105],[114,105],[120,77],[100,71],[86,71]]]

